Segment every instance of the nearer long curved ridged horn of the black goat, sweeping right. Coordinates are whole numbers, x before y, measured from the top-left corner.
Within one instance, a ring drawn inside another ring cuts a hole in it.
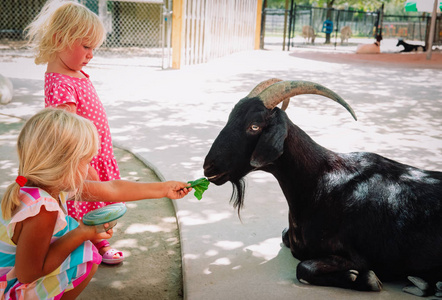
[[[268,109],[273,109],[281,101],[286,101],[287,98],[302,95],[302,94],[316,94],[327,98],[330,98],[339,104],[341,104],[355,120],[356,114],[354,113],[351,106],[345,102],[338,94],[332,90],[322,86],[320,84],[309,82],[309,81],[282,81],[276,82],[263,90],[257,95],[258,98],[264,103],[265,107]],[[284,106],[284,104],[283,104]]]

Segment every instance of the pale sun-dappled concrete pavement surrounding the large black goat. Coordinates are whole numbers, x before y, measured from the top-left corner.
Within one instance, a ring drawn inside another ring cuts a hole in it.
[[[142,63],[97,57],[86,72],[106,107],[115,144],[150,162],[163,179],[202,177],[204,157],[234,104],[271,77],[321,83],[353,107],[358,122],[323,97],[292,100],[290,118],[321,145],[442,170],[442,66],[337,64],[279,51],[237,53],[178,71],[138,67]],[[28,57],[3,57],[0,73],[12,80],[16,99],[0,114],[26,118],[42,108],[44,69]],[[381,293],[300,284],[297,261],[281,245],[288,208],[276,180],[264,172],[247,176],[242,221],[229,205],[231,192],[228,184],[211,185],[201,201],[174,201],[185,298],[417,299],[401,292],[405,283],[384,284]]]

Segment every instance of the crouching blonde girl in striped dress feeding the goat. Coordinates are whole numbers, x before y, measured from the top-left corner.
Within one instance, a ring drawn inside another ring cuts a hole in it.
[[[97,233],[68,216],[69,197],[178,199],[191,190],[177,181],[87,181],[98,147],[94,124],[65,110],[44,109],[23,126],[19,176],[1,200],[0,299],[75,299],[88,285],[102,259],[90,240],[113,231]]]

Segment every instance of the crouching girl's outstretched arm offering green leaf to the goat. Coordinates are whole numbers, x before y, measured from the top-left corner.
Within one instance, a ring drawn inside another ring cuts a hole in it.
[[[127,180],[89,181],[84,182],[81,194],[82,201],[129,202],[143,199],[168,197],[179,199],[192,189],[190,184],[180,181],[166,182],[133,182]]]

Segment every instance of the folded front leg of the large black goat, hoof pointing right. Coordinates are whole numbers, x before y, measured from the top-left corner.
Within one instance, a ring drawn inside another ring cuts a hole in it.
[[[298,264],[296,276],[301,283],[333,286],[358,291],[380,291],[382,283],[371,270],[358,270],[343,257],[305,260]]]

